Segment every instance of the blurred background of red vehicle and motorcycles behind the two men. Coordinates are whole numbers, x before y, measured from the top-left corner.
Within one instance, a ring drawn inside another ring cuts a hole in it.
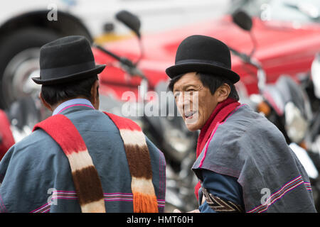
[[[100,74],[100,109],[127,116],[164,153],[166,211],[196,209],[191,172],[198,132],[186,130],[164,70],[189,35],[209,35],[232,53],[240,102],[266,116],[284,134],[311,179],[319,209],[320,1],[319,0],[23,0],[1,1],[0,158],[35,123],[50,116],[38,100],[42,45],[65,35],[92,42]],[[138,89],[140,87],[140,89]],[[124,92],[137,99],[128,102]],[[174,116],[146,116],[175,109]],[[126,115],[125,109],[135,114]],[[171,109],[172,109],[171,108]]]

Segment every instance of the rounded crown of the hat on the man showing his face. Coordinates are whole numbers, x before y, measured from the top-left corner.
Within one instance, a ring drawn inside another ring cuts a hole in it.
[[[231,69],[230,50],[225,43],[205,35],[191,35],[184,39],[176,51],[176,64],[196,60],[215,63]]]

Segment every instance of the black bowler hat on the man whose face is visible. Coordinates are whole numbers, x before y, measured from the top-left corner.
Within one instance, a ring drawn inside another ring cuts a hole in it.
[[[175,65],[166,69],[166,74],[171,78],[187,72],[209,73],[230,79],[233,83],[240,79],[231,70],[228,46],[205,35],[191,35],[184,39],[176,51]]]

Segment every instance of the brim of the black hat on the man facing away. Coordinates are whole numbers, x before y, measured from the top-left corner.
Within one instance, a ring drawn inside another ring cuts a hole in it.
[[[96,65],[92,70],[70,74],[65,77],[59,77],[58,79],[41,79],[40,77],[32,77],[31,79],[33,79],[33,82],[35,82],[36,84],[42,85],[63,84],[73,82],[78,79],[85,79],[86,77],[92,77],[92,74],[100,74],[100,72],[105,69],[105,66],[106,65]]]

